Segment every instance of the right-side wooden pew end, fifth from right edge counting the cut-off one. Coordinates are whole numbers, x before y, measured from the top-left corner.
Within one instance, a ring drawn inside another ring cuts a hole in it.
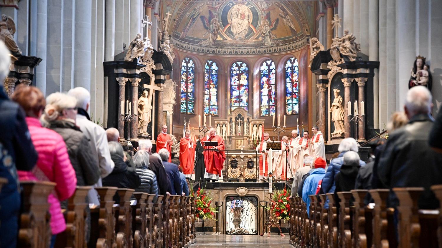
[[[342,248],[351,248],[351,192],[337,192],[339,197],[339,233],[338,245]]]

